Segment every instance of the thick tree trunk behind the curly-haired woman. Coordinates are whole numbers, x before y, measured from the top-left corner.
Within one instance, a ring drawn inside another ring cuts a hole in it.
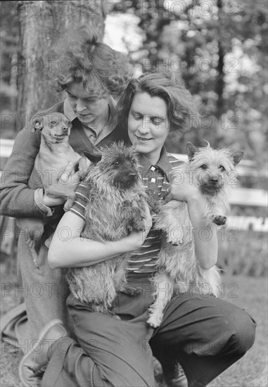
[[[63,100],[51,94],[49,73],[55,61],[53,46],[70,27],[87,25],[103,39],[106,0],[18,1],[20,44],[18,52],[18,125],[27,125],[33,113]]]

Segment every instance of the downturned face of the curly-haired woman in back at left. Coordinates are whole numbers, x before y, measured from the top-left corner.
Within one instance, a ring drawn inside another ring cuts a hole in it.
[[[99,99],[98,96],[85,90],[82,82],[71,82],[65,89],[68,101],[79,121],[92,125],[101,119],[108,111],[108,99]]]

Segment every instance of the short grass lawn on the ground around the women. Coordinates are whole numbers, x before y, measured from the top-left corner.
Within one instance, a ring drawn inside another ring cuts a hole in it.
[[[17,282],[15,274],[6,273],[6,265],[1,264],[2,278],[5,282]],[[8,270],[9,273],[13,270]],[[245,308],[257,321],[256,340],[253,348],[236,364],[217,377],[209,387],[267,387],[267,278],[239,277],[225,275],[224,298]],[[231,285],[236,284],[236,286]],[[229,287],[228,287],[229,286]],[[232,292],[236,288],[236,291]],[[236,296],[236,297],[232,297]],[[11,309],[20,300],[12,296],[1,298],[1,313]],[[1,387],[18,387],[18,364],[23,353],[1,348]],[[159,364],[155,364],[159,386],[163,386]]]

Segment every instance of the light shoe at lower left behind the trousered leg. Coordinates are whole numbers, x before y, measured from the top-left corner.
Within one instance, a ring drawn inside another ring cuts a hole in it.
[[[18,373],[25,387],[41,386],[42,376],[49,364],[51,345],[59,338],[69,336],[68,330],[60,319],[53,319],[44,326],[36,343],[20,361]]]

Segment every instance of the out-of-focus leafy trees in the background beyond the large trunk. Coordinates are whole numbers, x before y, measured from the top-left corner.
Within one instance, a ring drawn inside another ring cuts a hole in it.
[[[84,4],[64,1],[72,2]],[[17,103],[18,72],[6,59],[18,55],[20,33],[18,13],[8,11],[11,3],[1,2],[1,113],[13,112]],[[108,0],[109,18],[126,20],[122,39],[137,75],[170,68],[200,103],[200,128],[180,141],[171,138],[170,151],[184,153],[186,141],[203,145],[206,139],[243,149],[245,158],[266,169],[267,0]],[[112,46],[113,38],[110,32]]]

